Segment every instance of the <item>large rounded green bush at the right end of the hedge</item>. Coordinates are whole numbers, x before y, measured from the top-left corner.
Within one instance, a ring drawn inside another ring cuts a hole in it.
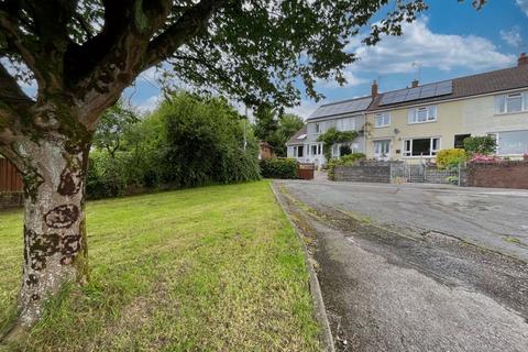
[[[161,180],[176,187],[258,179],[257,143],[221,98],[177,94],[155,112],[162,121]]]

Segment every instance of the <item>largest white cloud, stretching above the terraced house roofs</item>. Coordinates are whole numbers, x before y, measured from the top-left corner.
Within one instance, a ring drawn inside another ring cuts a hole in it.
[[[433,33],[428,19],[404,23],[402,36],[384,36],[375,46],[358,46],[353,52],[361,58],[352,65],[355,70],[376,74],[402,74],[415,70],[413,63],[422,67],[451,70],[469,68],[482,70],[499,68],[515,63],[490,41],[475,35]]]

